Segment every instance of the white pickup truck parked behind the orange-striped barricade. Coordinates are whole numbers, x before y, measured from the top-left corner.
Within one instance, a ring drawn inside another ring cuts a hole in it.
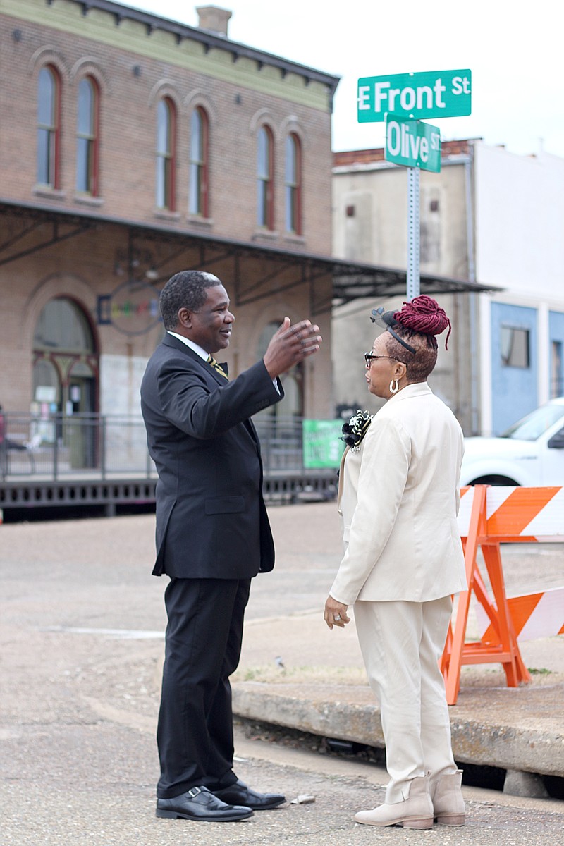
[[[564,486],[564,397],[500,437],[465,438],[460,485]]]

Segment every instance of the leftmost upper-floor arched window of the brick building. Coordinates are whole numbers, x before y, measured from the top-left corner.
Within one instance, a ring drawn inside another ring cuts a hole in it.
[[[37,183],[58,188],[61,80],[52,65],[37,80]]]

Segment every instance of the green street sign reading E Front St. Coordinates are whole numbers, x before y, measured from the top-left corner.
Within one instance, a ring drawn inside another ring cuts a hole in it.
[[[472,112],[472,71],[364,76],[358,87],[359,124],[403,118],[455,118]]]

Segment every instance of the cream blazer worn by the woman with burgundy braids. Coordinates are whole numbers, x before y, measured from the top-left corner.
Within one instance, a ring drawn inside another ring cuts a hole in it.
[[[467,589],[457,526],[463,431],[426,382],[375,415],[343,457],[337,602],[429,602]]]

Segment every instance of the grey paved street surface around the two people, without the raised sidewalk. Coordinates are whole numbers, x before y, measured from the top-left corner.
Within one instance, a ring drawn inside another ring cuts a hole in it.
[[[334,503],[271,508],[271,519],[278,563],[254,585],[247,668],[271,660],[275,666],[276,656],[252,636],[267,618],[273,625],[286,614],[313,620],[309,612],[319,607],[323,631],[323,602],[340,554]],[[375,832],[355,826],[354,811],[381,800],[381,767],[254,738],[248,729],[238,731],[238,774],[256,788],[284,791],[287,799],[310,794],[314,803],[288,804],[237,824],[156,820],[154,733],[165,614],[164,581],[151,577],[153,531],[151,515],[0,527],[1,843],[560,842],[561,802],[479,788],[465,789],[464,829]],[[556,583],[556,550],[535,558],[535,580],[539,568],[547,585]],[[530,560],[511,569],[510,588],[531,576]],[[335,656],[334,633],[326,634],[326,655]],[[312,655],[307,638],[301,654],[301,667],[326,660]]]

